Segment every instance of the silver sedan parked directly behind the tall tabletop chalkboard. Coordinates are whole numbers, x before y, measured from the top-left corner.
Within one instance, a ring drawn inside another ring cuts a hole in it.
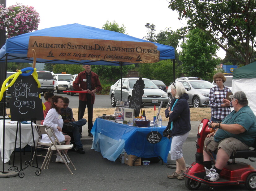
[[[139,78],[123,78],[122,79],[122,98],[130,99],[132,97],[133,85]],[[168,103],[168,95],[163,90],[160,90],[150,79],[142,78],[144,80],[145,88],[142,95],[141,106],[159,106],[163,101],[163,106],[166,107]],[[114,85],[110,87],[111,105],[115,107],[116,102],[121,99],[121,80],[119,79]]]

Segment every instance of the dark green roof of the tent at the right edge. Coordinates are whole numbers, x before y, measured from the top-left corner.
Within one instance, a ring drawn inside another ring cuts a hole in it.
[[[256,62],[234,69],[233,79],[256,78]]]

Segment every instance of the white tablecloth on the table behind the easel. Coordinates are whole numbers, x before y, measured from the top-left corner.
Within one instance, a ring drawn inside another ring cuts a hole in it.
[[[11,153],[14,151],[15,147],[15,135],[17,129],[17,122],[16,123],[9,123],[11,120],[5,120],[5,156],[4,162],[8,162],[10,160]],[[30,121],[28,121],[30,122]],[[33,123],[33,130],[34,130],[34,138],[35,144],[38,140],[38,133],[35,129],[36,124]],[[3,161],[3,120],[0,120],[0,150],[1,150],[1,157]],[[26,145],[33,146],[33,136],[31,131],[31,124],[22,124],[21,123],[21,148],[24,148]],[[17,143],[16,148],[20,147],[20,127],[18,128],[18,136],[17,136]]]

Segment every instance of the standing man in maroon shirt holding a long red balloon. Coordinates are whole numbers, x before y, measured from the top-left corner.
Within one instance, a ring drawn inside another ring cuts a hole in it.
[[[91,65],[83,65],[83,68],[85,68],[85,71],[78,74],[76,80],[73,82],[73,87],[77,91],[88,92],[79,93],[78,120],[83,119],[85,108],[87,106],[88,136],[92,137],[91,129],[93,127],[93,104],[95,101],[95,93],[101,91],[102,87],[98,75],[91,71]],[[81,132],[82,128],[80,128],[80,133]]]

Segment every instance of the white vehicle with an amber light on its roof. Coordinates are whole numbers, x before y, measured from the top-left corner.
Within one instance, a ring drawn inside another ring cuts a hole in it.
[[[54,90],[56,90],[57,93],[67,90],[67,84],[71,76],[71,74],[54,74]]]

